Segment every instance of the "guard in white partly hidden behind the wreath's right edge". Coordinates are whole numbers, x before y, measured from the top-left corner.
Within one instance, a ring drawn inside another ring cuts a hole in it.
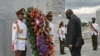
[[[50,31],[49,31],[49,36],[52,39],[50,45],[52,45],[51,50],[49,50],[49,56],[56,56],[55,54],[55,45],[54,45],[54,24],[52,23],[52,12],[49,11],[49,13],[46,15]]]

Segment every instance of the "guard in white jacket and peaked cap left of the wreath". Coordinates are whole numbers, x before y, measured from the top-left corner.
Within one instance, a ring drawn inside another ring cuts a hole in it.
[[[12,49],[15,56],[26,56],[27,27],[23,22],[25,9],[16,12],[18,19],[12,25]]]

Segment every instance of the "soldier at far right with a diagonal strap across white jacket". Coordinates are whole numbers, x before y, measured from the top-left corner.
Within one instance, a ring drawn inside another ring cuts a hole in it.
[[[97,47],[98,47],[97,40],[98,40],[98,34],[99,34],[99,25],[95,21],[96,19],[93,17],[92,22],[90,24],[93,50],[97,50]]]

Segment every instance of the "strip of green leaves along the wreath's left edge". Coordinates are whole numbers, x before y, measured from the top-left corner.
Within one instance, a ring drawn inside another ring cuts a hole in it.
[[[26,20],[26,25],[27,25],[27,28],[28,28],[28,32],[29,32],[29,37],[30,37],[30,44],[31,44],[31,48],[32,48],[32,54],[34,56],[39,56],[39,51],[37,49],[37,46],[36,46],[36,33],[34,32],[34,29],[32,28],[32,25],[31,25],[31,22],[30,21],[30,11],[33,9],[33,7],[29,7],[27,8],[27,11],[25,12],[26,14],[26,17],[25,17],[25,20]]]

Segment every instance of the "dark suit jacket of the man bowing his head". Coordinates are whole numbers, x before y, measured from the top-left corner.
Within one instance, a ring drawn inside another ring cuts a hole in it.
[[[68,22],[67,35],[69,39],[68,44],[71,44],[74,47],[80,47],[84,44],[84,40],[82,39],[81,21],[75,15],[72,15]]]

